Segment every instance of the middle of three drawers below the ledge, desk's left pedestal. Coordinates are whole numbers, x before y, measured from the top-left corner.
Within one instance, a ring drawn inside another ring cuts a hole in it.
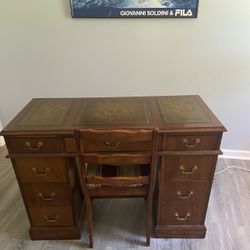
[[[70,206],[71,189],[65,183],[23,183],[29,206]]]

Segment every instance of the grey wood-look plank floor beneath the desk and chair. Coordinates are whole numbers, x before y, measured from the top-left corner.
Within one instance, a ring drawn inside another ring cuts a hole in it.
[[[31,241],[29,221],[5,147],[0,147],[0,250],[87,248],[86,228],[81,240]],[[250,169],[250,161],[219,159],[227,166]],[[228,169],[215,176],[205,239],[155,239],[144,247],[145,202],[142,199],[94,201],[94,249],[248,250],[250,249],[250,173]]]

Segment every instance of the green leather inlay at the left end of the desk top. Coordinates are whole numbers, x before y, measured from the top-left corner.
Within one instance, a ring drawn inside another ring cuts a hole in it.
[[[27,115],[18,123],[20,126],[59,126],[69,112],[72,100],[35,100]]]

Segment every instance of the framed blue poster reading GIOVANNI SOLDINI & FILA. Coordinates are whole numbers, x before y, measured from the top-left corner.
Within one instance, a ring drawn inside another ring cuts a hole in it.
[[[72,17],[197,17],[199,0],[71,0]]]

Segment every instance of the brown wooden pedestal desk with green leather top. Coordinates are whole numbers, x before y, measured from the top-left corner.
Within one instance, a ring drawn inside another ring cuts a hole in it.
[[[33,99],[2,130],[32,239],[80,238],[84,209],[73,137],[79,127],[158,128],[154,234],[205,237],[206,210],[226,129],[199,96],[169,96]]]

